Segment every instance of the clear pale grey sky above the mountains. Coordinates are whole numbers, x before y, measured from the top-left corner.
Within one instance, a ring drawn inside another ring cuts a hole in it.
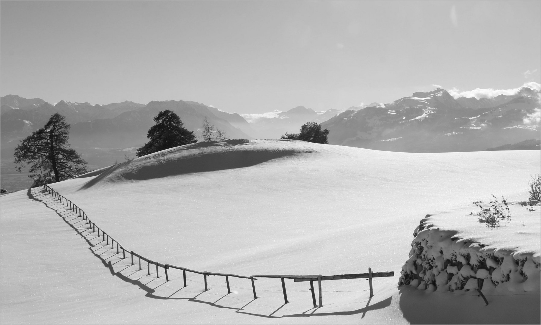
[[[0,95],[346,109],[541,82],[540,1],[1,1]]]

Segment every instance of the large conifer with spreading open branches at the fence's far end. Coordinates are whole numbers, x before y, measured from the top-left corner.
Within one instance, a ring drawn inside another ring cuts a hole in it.
[[[45,126],[24,138],[15,148],[16,169],[31,164],[28,177],[36,185],[60,182],[87,172],[85,162],[74,149],[69,149],[70,125],[65,116],[55,113]]]

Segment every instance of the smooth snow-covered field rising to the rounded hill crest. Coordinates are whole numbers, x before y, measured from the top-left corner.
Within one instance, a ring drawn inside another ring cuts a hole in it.
[[[41,189],[1,198],[2,323],[539,323],[539,288],[487,295],[397,287],[413,231],[438,227],[479,240],[520,236],[524,218],[497,230],[456,216],[491,194],[527,200],[539,151],[413,154],[298,141],[202,142],[157,152],[51,187],[128,250],[150,260],[239,275],[338,275],[313,308],[308,282],[230,278],[131,266]],[[453,212],[454,211],[454,212]],[[452,212],[452,213],[449,213]],[[539,210],[531,212],[539,217]],[[457,221],[459,220],[459,222]],[[520,249],[539,256],[539,218]],[[516,223],[516,224],[514,224]],[[512,227],[511,227],[512,226]],[[514,227],[514,228],[513,228]],[[512,236],[509,230],[513,231]],[[533,232],[533,235],[532,235]],[[537,240],[531,240],[536,236]],[[513,239],[514,240],[514,239]],[[491,244],[491,243],[487,243]],[[511,245],[512,246],[512,245]]]

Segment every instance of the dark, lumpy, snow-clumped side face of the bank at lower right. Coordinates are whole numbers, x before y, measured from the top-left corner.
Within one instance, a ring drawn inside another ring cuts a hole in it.
[[[475,290],[539,292],[538,254],[485,249],[485,245],[459,238],[457,231],[440,230],[430,215],[415,229],[410,258],[401,270],[399,286],[431,291]]]

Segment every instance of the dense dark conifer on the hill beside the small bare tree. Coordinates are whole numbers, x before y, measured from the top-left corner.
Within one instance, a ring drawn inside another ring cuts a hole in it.
[[[197,142],[195,133],[182,127],[184,123],[172,110],[163,110],[154,117],[154,124],[147,133],[149,142],[137,149],[137,157],[153,152]]]

